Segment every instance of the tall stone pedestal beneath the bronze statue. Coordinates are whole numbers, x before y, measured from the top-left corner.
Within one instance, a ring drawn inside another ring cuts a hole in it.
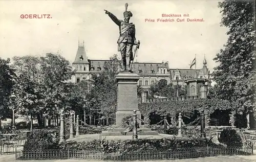
[[[139,75],[130,72],[120,72],[116,75],[117,82],[117,111],[116,125],[121,125],[122,119],[133,115],[136,110],[137,118],[141,119],[138,109],[137,82]],[[139,125],[141,121],[138,120]]]

